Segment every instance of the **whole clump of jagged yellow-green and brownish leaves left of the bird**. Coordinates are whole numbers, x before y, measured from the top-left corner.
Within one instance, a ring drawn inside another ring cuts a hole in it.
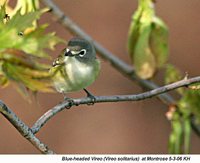
[[[53,50],[56,44],[64,42],[53,32],[45,33],[47,25],[32,28],[43,12],[36,10],[22,15],[20,8],[9,21],[2,20],[0,25],[0,85],[17,85],[17,90],[25,97],[28,90],[53,92],[50,65],[43,64],[44,60],[40,59],[49,59],[45,50]],[[5,6],[0,9],[0,14],[4,13]]]

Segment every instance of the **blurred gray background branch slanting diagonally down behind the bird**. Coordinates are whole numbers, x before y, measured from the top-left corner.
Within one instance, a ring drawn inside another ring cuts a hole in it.
[[[143,80],[139,78],[133,69],[133,66],[130,66],[123,62],[121,59],[116,57],[110,51],[105,49],[97,41],[93,40],[86,32],[84,32],[76,23],[74,23],[69,17],[67,17],[64,12],[52,1],[52,0],[43,0],[46,6],[48,6],[51,12],[58,18],[59,22],[67,28],[72,34],[84,38],[88,41],[93,42],[97,53],[106,61],[110,62],[111,65],[118,70],[120,73],[128,77],[132,81],[137,81],[137,83],[146,88],[146,89],[155,89],[158,86],[148,80]],[[169,94],[162,94],[158,96],[165,104],[173,105],[175,100]]]

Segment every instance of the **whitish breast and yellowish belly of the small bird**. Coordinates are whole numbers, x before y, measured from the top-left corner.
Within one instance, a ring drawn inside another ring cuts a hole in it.
[[[85,64],[74,57],[65,60],[64,66],[54,77],[54,85],[59,92],[81,90],[94,82],[99,73],[99,62]]]

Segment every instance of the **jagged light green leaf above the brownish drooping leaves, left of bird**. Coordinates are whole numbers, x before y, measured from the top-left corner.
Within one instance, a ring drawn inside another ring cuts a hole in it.
[[[63,41],[56,37],[55,33],[45,34],[47,25],[39,26],[22,36],[19,35],[19,32],[31,27],[32,22],[37,20],[41,13],[42,11],[34,11],[21,15],[20,10],[18,10],[16,15],[0,30],[0,51],[14,48],[37,57],[48,58],[49,55],[44,50],[53,49],[57,43]]]

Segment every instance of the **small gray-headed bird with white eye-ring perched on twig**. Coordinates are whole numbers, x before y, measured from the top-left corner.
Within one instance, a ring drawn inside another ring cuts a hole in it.
[[[50,68],[53,86],[65,99],[69,99],[66,93],[84,90],[87,97],[95,100],[86,87],[97,79],[100,67],[93,44],[82,38],[72,38]]]

